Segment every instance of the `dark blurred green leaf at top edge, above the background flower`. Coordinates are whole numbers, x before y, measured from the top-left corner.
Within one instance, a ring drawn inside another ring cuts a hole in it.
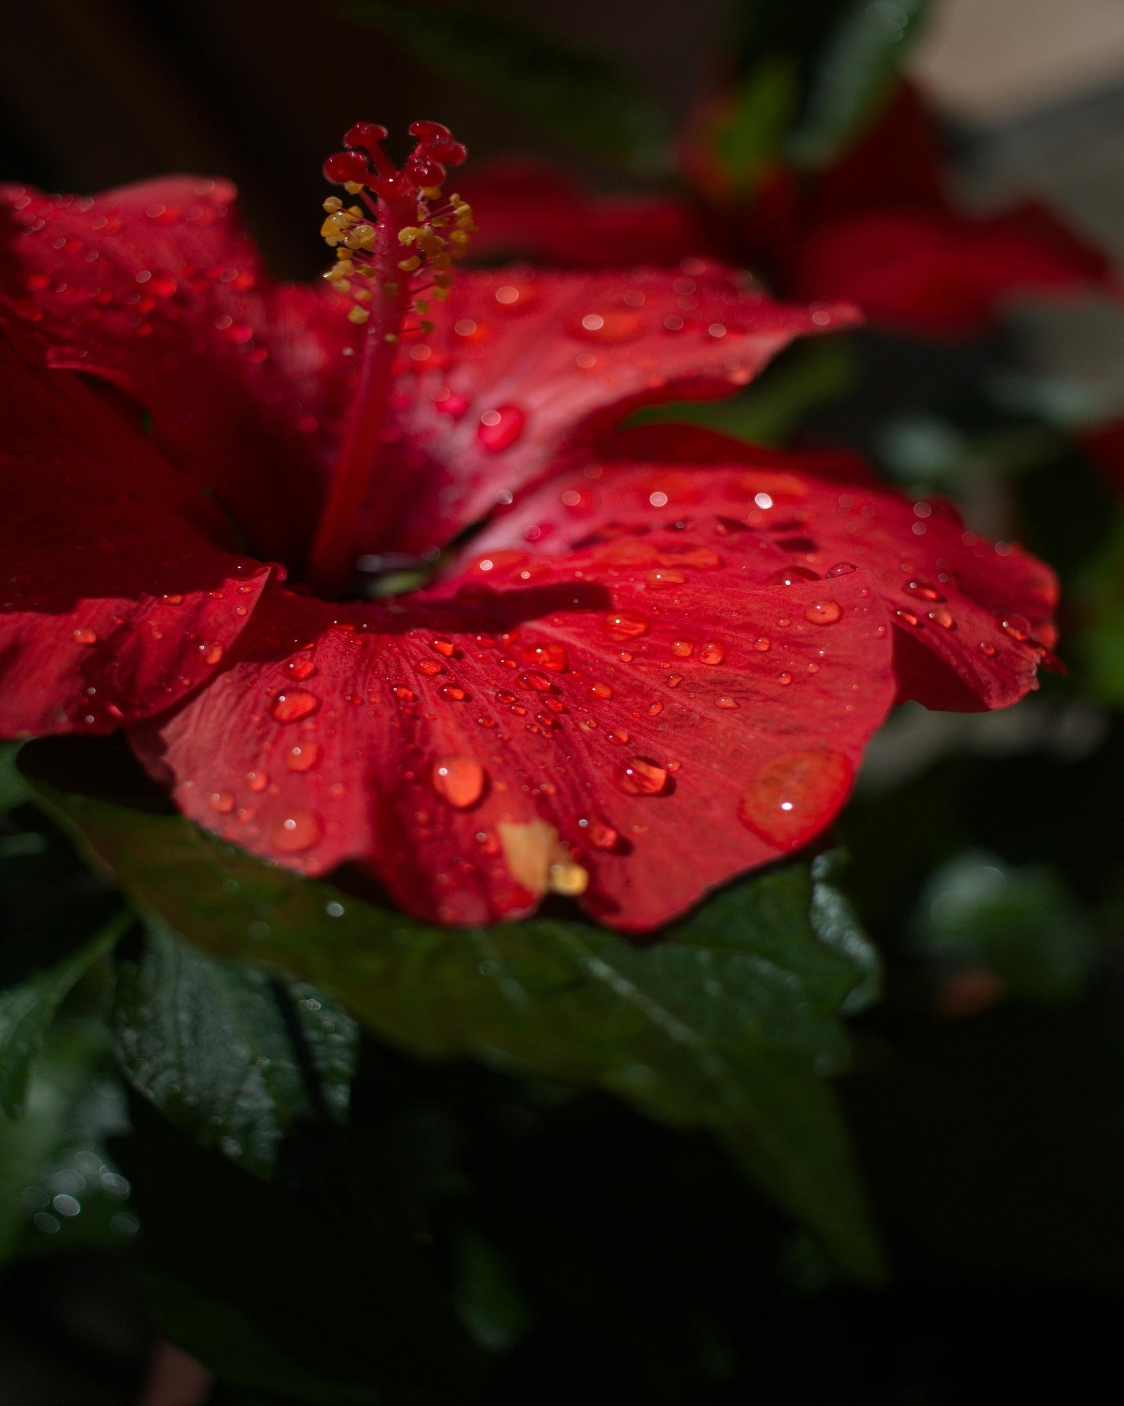
[[[665,112],[600,53],[476,6],[362,0],[353,15],[427,67],[482,90],[544,136],[639,173],[667,166]]]

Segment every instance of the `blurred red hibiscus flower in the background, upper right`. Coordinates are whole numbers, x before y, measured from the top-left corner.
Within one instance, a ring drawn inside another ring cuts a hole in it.
[[[681,142],[690,201],[586,197],[538,166],[500,166],[469,194],[485,239],[569,267],[712,253],[762,269],[788,297],[856,302],[891,328],[961,336],[1020,294],[1111,288],[1106,256],[1043,205],[964,214],[937,127],[908,84],[826,170],[777,163],[750,180],[715,160],[729,117],[708,103]]]

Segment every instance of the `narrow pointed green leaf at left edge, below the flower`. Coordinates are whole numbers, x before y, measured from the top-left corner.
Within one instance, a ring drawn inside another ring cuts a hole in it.
[[[100,957],[117,946],[133,921],[132,914],[118,914],[60,962],[0,990],[0,1108],[6,1114],[15,1116],[22,1112],[28,1080],[63,998]]]

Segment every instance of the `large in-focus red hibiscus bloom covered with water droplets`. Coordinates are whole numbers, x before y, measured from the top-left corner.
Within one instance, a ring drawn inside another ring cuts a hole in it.
[[[370,124],[329,160],[361,202],[319,291],[221,183],[3,191],[4,735],[126,728],[208,830],[441,921],[554,890],[641,929],[826,825],[895,696],[1034,686],[1017,547],[846,456],[613,433],[846,308],[712,264],[454,283],[464,150],[412,131],[402,170]]]

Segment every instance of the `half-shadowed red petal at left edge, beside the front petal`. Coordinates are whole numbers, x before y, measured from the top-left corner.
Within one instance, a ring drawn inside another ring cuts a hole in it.
[[[1,329],[0,465],[0,735],[112,731],[214,676],[268,568],[216,547],[152,441]]]

